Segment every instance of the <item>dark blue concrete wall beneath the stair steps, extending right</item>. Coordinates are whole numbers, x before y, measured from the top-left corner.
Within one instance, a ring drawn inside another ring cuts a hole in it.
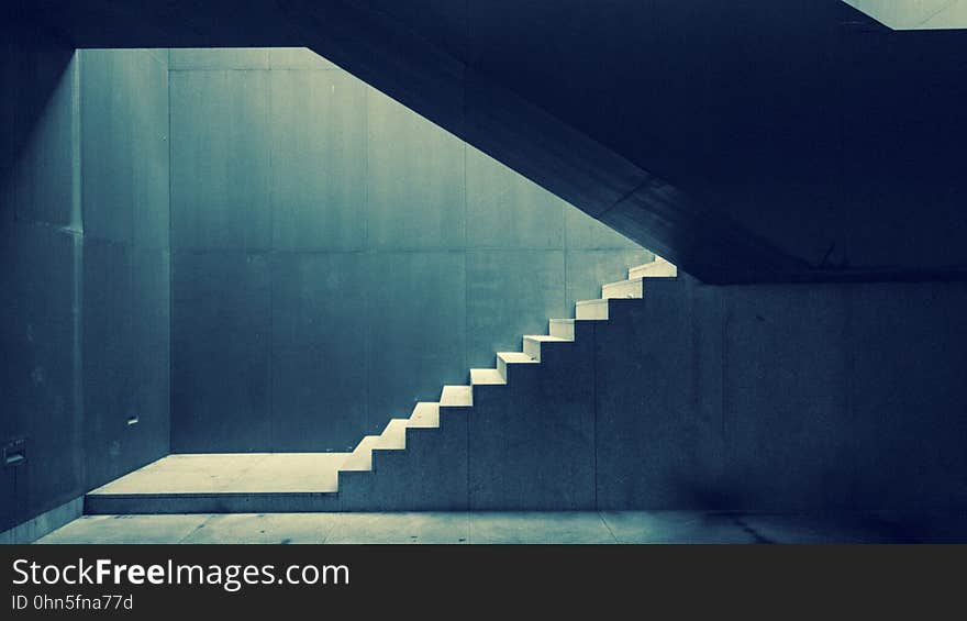
[[[649,280],[332,509],[967,508],[967,286]]]

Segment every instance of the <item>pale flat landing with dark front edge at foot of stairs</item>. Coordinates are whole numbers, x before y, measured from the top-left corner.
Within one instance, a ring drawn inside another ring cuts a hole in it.
[[[348,453],[168,455],[85,497],[85,513],[326,511]]]

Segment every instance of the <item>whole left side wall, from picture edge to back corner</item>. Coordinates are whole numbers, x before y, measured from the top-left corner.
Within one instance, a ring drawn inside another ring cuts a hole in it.
[[[5,530],[167,452],[169,259],[166,53],[2,45]]]

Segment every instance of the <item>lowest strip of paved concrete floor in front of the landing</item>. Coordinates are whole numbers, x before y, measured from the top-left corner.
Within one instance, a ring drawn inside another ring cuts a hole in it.
[[[699,511],[86,515],[53,543],[946,543],[967,515],[876,511],[768,515]]]

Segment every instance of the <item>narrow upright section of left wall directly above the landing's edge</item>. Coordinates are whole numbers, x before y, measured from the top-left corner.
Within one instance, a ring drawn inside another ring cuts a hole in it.
[[[168,52],[78,55],[84,454],[96,487],[169,450]]]

